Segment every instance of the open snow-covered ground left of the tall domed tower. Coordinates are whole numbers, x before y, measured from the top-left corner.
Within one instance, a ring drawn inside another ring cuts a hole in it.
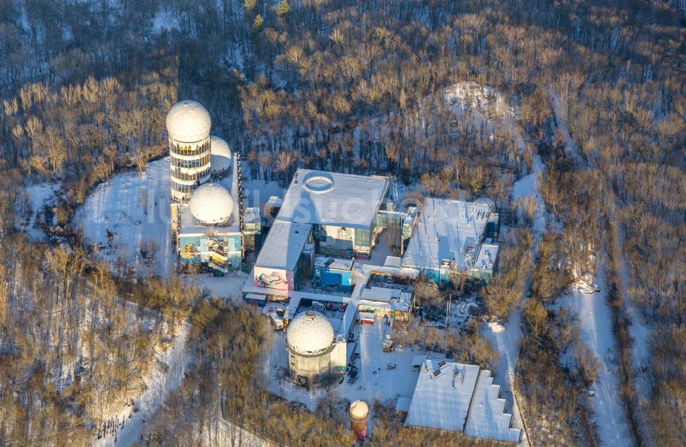
[[[115,266],[119,257],[139,277],[167,277],[176,255],[169,217],[169,159],[147,164],[145,171],[115,175],[95,188],[76,212],[74,225],[99,255]],[[111,247],[107,232],[113,234]],[[141,248],[155,252],[144,259]]]

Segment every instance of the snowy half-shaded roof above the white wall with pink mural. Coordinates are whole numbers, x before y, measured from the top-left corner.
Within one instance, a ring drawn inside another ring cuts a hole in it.
[[[294,270],[311,231],[309,224],[274,220],[255,266]]]

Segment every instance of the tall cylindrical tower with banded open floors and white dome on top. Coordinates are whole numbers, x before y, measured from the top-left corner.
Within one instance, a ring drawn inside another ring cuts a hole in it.
[[[187,202],[210,178],[210,114],[196,101],[181,101],[167,113],[171,199]]]

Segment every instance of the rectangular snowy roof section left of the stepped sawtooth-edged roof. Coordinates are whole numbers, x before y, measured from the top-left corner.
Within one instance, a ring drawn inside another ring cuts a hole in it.
[[[476,365],[425,359],[405,425],[463,431],[479,369]]]

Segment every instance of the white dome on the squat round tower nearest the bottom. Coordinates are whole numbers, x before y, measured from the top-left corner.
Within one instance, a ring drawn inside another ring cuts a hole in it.
[[[296,354],[322,354],[332,343],[333,327],[326,317],[316,311],[298,314],[286,330],[286,346]]]

